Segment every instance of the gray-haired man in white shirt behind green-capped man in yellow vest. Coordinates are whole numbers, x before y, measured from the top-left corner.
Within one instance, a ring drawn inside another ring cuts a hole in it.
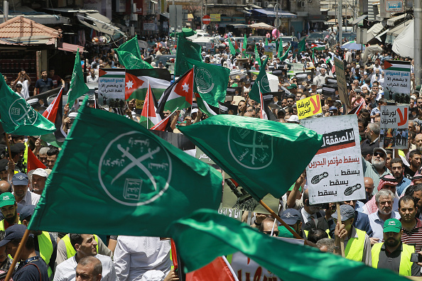
[[[389,187],[384,186],[375,194],[375,202],[378,211],[369,215],[369,224],[373,231],[372,241],[374,238],[378,238],[378,242],[381,242],[384,238],[384,222],[387,219],[400,219],[400,214],[393,211],[394,193]]]

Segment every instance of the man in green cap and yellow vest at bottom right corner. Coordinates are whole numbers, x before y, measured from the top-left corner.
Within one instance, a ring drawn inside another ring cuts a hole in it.
[[[401,242],[403,230],[398,219],[387,219],[384,223],[384,243],[372,247],[372,267],[386,268],[404,276],[421,276],[421,266],[411,262],[415,247]]]

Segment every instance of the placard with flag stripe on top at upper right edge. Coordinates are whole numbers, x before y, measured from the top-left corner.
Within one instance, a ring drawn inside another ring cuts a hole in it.
[[[410,94],[410,84],[410,61],[384,60],[384,89],[395,94]],[[390,99],[395,99],[395,95]]]

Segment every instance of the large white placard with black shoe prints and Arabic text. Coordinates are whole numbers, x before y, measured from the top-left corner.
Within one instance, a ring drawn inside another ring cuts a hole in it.
[[[304,119],[301,125],[323,135],[323,145],[306,167],[310,204],[365,197],[357,116]]]

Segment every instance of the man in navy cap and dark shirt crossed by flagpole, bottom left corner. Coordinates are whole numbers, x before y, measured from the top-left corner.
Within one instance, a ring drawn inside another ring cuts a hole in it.
[[[14,257],[21,243],[26,226],[14,224],[6,229],[6,236],[0,241],[0,247],[6,245],[6,253]],[[48,281],[47,265],[36,255],[33,234],[29,234],[25,246],[22,248],[18,268],[12,275],[15,281]]]

